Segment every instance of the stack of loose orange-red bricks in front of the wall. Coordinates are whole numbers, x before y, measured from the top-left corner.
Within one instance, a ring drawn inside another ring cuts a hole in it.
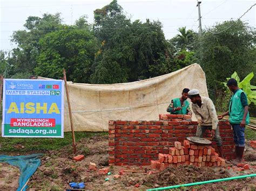
[[[158,154],[158,160],[151,160],[152,169],[164,169],[166,167],[178,167],[180,165],[201,166],[225,166],[225,160],[219,157],[211,146],[190,144],[184,140],[183,146],[180,142],[174,142],[170,147],[169,154]]]

